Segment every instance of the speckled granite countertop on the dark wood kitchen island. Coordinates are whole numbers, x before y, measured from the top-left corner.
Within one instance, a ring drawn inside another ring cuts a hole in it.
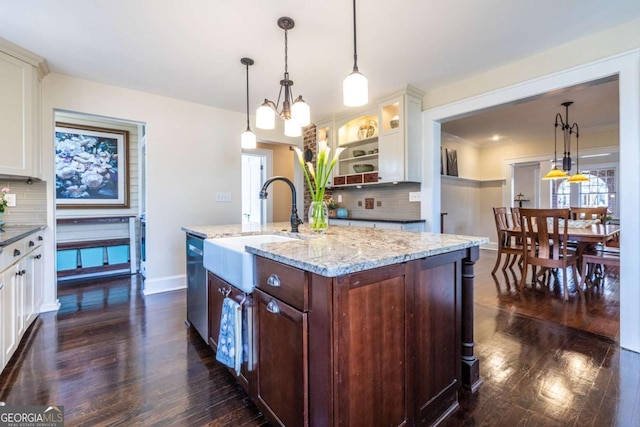
[[[488,243],[486,237],[439,233],[381,230],[360,227],[329,227],[326,234],[314,235],[306,224],[300,233],[290,233],[289,223],[264,226],[216,225],[183,227],[203,238],[250,234],[279,234],[297,237],[290,242],[247,246],[247,252],[326,277],[425,258]]]

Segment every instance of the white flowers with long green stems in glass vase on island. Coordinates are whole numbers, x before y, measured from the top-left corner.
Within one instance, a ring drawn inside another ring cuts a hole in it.
[[[298,162],[304,171],[304,177],[307,180],[309,193],[311,193],[311,205],[309,206],[309,227],[311,231],[324,233],[329,226],[329,211],[324,201],[324,193],[327,188],[327,182],[331,176],[331,171],[338,161],[338,157],[344,148],[338,148],[333,155],[333,159],[329,161],[331,148],[327,145],[327,141],[318,142],[318,156],[316,159],[316,167],[314,169],[311,162],[307,162],[305,166],[302,150],[293,147],[298,155]]]

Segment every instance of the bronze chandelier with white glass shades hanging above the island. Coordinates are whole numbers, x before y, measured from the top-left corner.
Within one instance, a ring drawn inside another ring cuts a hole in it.
[[[287,136],[302,135],[302,127],[311,123],[309,106],[301,95],[294,100],[291,91],[293,80],[289,78],[287,34],[294,26],[295,22],[291,18],[278,19],[278,27],[284,30],[284,78],[280,80],[278,100],[274,103],[265,98],[264,103],[256,111],[256,127],[260,129],[275,128],[275,115],[277,114],[284,120],[284,134]],[[284,98],[282,97],[283,91]],[[282,110],[278,111],[280,99],[282,99]]]

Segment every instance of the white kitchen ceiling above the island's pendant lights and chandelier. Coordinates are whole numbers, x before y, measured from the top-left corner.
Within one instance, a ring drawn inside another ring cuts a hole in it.
[[[357,4],[358,64],[372,99],[407,83],[429,91],[640,17],[637,0]],[[0,0],[0,37],[44,57],[55,73],[244,112],[240,58],[255,60],[251,111],[264,98],[275,101],[284,69],[276,22],[289,16],[294,93],[319,117],[345,110],[351,7],[347,0]],[[545,108],[550,125],[559,109]]]

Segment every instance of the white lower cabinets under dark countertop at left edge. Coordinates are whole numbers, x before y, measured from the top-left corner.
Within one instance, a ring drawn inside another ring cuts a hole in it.
[[[42,305],[42,232],[3,247],[0,254],[0,371],[9,363]]]

